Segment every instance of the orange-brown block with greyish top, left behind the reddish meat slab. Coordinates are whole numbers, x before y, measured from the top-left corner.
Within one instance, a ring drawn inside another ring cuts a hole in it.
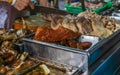
[[[36,13],[36,12],[35,12]],[[39,26],[48,26],[50,24],[49,21],[46,21],[42,18],[41,14],[30,15],[29,17],[24,18],[26,25],[28,26],[28,30],[33,30],[34,32],[37,30]],[[21,29],[23,27],[23,22],[19,18],[14,22],[14,29]]]

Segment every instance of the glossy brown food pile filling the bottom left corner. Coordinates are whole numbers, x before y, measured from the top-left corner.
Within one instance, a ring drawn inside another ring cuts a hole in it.
[[[13,44],[4,41],[0,47],[0,75],[15,75],[30,68],[37,62],[29,59],[27,52],[18,53],[13,48]],[[39,65],[39,72],[30,72],[29,75],[48,75],[50,70],[45,64]],[[28,74],[25,74],[28,75]]]

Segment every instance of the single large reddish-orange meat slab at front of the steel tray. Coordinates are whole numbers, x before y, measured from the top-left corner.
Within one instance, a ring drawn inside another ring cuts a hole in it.
[[[75,33],[72,30],[69,30],[62,26],[58,27],[56,30],[42,26],[37,29],[34,39],[38,41],[54,43],[57,41],[71,39],[79,36],[80,33]]]

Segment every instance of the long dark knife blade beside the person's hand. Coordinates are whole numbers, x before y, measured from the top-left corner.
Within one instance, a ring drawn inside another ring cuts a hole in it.
[[[67,11],[59,10],[56,8],[49,8],[44,6],[35,6],[34,11],[46,13],[46,14],[58,14],[58,15],[67,15],[69,14]]]

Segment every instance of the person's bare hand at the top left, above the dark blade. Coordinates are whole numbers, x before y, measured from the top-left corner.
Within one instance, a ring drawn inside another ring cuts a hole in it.
[[[32,9],[34,8],[33,3],[30,0],[16,0],[14,7],[19,11],[25,9],[27,6],[30,6]]]

